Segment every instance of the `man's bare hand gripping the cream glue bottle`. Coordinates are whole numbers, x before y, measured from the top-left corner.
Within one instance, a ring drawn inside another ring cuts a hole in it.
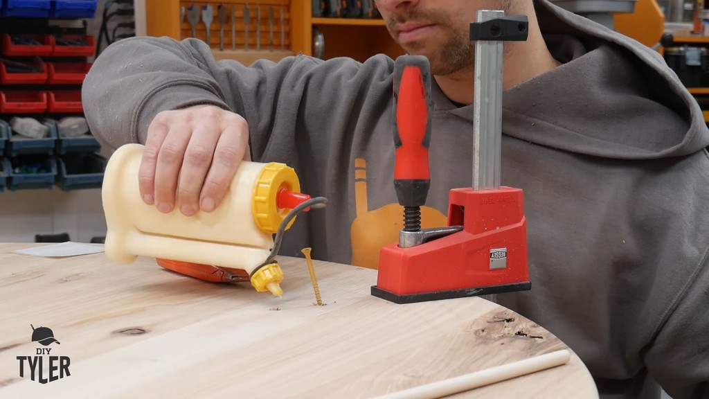
[[[147,130],[140,195],[160,212],[187,216],[218,207],[241,160],[250,160],[246,120],[218,106],[162,111]]]

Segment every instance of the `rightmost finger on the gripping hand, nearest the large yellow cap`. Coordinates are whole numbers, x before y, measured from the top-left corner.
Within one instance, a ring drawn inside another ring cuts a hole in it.
[[[241,119],[223,127],[224,131],[217,141],[199,202],[205,212],[212,212],[219,206],[247,151],[248,129],[245,121]]]

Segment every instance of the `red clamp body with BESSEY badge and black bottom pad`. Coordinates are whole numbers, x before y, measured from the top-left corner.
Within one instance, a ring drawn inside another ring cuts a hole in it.
[[[530,290],[523,192],[454,189],[448,225],[463,226],[423,244],[379,251],[372,295],[396,303]]]

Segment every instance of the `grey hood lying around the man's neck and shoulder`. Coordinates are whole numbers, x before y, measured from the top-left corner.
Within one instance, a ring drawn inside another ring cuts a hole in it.
[[[562,65],[506,90],[506,135],[613,159],[668,158],[709,146],[700,107],[659,53],[549,0],[535,0],[535,8]],[[470,119],[471,112],[459,109],[459,116]]]

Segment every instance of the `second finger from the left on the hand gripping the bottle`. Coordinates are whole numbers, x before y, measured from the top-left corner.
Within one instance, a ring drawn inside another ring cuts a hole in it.
[[[191,126],[171,124],[160,146],[155,167],[155,203],[160,212],[171,212],[174,208],[177,180],[190,137]]]

